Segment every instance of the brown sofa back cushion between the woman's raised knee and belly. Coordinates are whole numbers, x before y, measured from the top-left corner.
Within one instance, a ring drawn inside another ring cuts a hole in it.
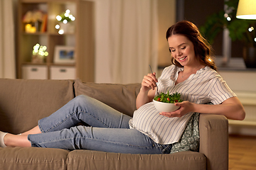
[[[141,84],[95,84],[75,80],[75,96],[81,94],[96,98],[124,114],[132,116]],[[102,95],[104,94],[104,95]]]

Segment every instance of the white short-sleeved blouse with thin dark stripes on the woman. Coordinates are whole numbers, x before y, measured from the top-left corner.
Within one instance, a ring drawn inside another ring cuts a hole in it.
[[[208,66],[175,85],[178,72],[181,71],[183,67],[166,67],[158,79],[156,95],[167,91],[170,94],[178,92],[183,101],[198,104],[211,102],[215,105],[236,96],[223,78]],[[148,135],[156,143],[168,145],[178,142],[192,114],[188,113],[181,118],[167,118],[159,114],[153,102],[149,102],[134,111],[133,118],[129,120],[129,127]]]

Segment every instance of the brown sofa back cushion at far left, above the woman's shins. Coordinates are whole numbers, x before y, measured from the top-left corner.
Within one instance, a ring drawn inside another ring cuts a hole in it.
[[[0,130],[18,134],[74,98],[73,81],[0,79]]]

